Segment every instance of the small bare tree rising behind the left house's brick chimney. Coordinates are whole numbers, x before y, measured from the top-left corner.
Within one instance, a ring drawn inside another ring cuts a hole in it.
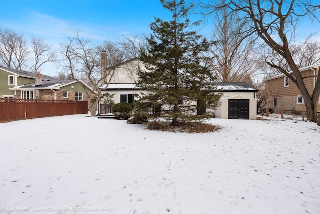
[[[34,54],[34,64],[31,70],[34,73],[40,71],[40,67],[47,62],[54,62],[56,59],[56,51],[53,50],[52,46],[45,43],[43,39],[31,37],[30,39],[31,49]]]

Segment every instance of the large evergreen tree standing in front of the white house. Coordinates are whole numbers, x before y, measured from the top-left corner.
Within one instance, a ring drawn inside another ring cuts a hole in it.
[[[172,13],[172,19],[155,18],[150,24],[149,47],[141,53],[147,70],[139,70],[137,81],[147,93],[139,98],[138,106],[161,106],[161,116],[178,125],[203,118],[199,109],[216,107],[220,93],[210,84],[214,76],[200,55],[209,48],[208,42],[195,31],[187,31],[192,26],[187,18],[190,7],[184,0],[161,0],[161,4]]]

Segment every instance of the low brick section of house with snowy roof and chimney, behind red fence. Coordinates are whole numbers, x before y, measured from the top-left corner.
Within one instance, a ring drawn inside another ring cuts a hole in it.
[[[89,86],[85,86],[92,91]],[[87,101],[86,93],[78,81],[43,80],[40,73],[35,74],[34,82],[12,87],[10,90],[14,91],[15,98],[20,99]]]

